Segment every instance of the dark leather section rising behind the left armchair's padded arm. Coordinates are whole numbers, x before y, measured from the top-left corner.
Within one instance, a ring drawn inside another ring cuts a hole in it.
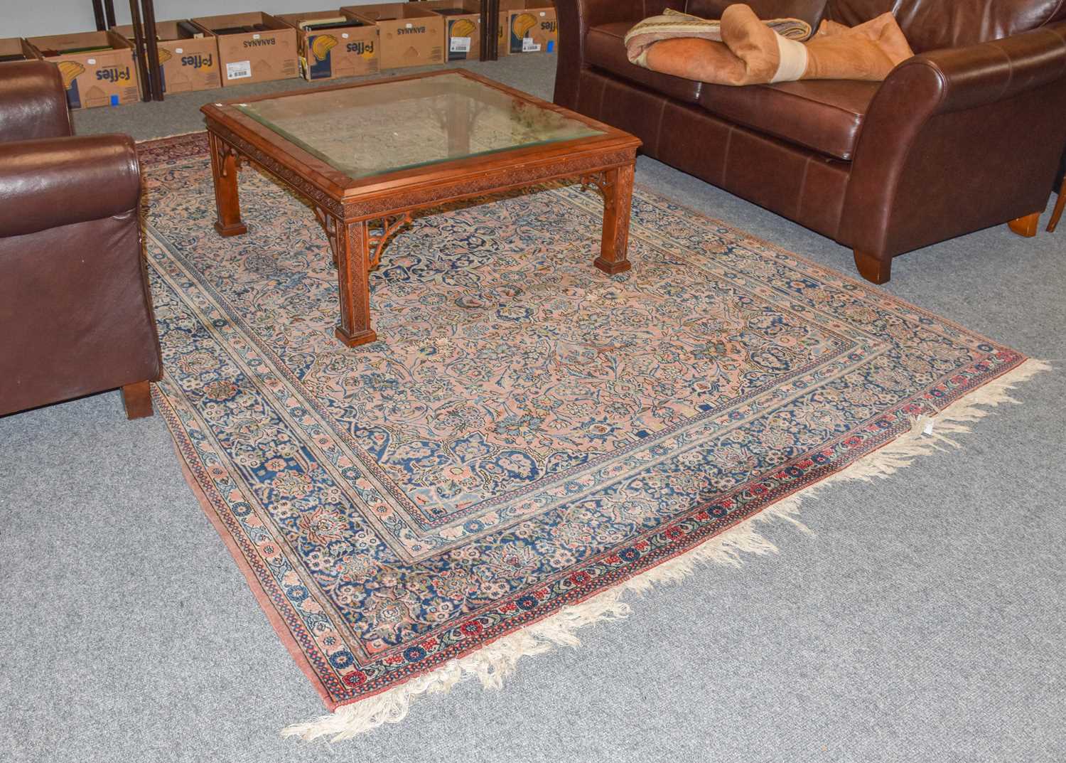
[[[0,76],[0,141],[72,134],[59,67],[47,61],[4,64]]]

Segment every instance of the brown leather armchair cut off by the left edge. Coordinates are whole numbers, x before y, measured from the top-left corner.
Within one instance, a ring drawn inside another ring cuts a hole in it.
[[[0,415],[162,375],[126,136],[71,134],[59,69],[0,64]]]

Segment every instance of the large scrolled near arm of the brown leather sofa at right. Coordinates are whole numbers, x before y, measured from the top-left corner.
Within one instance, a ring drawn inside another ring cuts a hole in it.
[[[908,59],[867,112],[838,240],[884,260],[1044,209],[1064,113],[1066,23]]]

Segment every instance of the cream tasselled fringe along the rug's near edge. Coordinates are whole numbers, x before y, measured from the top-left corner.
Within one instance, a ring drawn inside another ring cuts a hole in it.
[[[565,607],[540,622],[482,647],[477,652],[452,659],[433,672],[419,675],[375,697],[341,705],[329,715],[288,726],[281,730],[281,735],[300,736],[304,740],[332,735],[332,742],[339,742],[382,724],[397,724],[404,719],[411,701],[419,695],[449,692],[459,681],[469,678],[477,678],[486,688],[499,689],[503,686],[503,680],[514,672],[521,657],[542,654],[556,646],[578,647],[581,645],[576,635],[579,629],[628,617],[631,608],[621,598],[629,591],[644,593],[663,583],[677,583],[691,575],[699,565],[739,567],[745,554],[777,553],[777,546],[755,529],[756,523],[786,521],[805,532],[811,532],[800,522],[801,504],[827,486],[844,480],[870,481],[874,477],[888,477],[909,466],[918,456],[941,450],[944,445],[959,447],[949,435],[969,432],[971,423],[991,413],[989,407],[1005,402],[1018,403],[1018,400],[1007,394],[1008,391],[1050,368],[1050,364],[1043,361],[1027,360],[1013,371],[955,401],[936,416],[919,417],[908,433],[826,479],[765,508],[750,521],[580,604]]]

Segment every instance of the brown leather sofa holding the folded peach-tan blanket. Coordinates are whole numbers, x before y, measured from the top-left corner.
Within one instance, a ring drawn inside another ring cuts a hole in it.
[[[893,256],[989,225],[1035,235],[1066,145],[1066,0],[748,0],[815,28],[893,12],[916,55],[883,83],[727,88],[626,59],[640,19],[730,4],[555,0],[555,102],[850,247],[874,283]]]

